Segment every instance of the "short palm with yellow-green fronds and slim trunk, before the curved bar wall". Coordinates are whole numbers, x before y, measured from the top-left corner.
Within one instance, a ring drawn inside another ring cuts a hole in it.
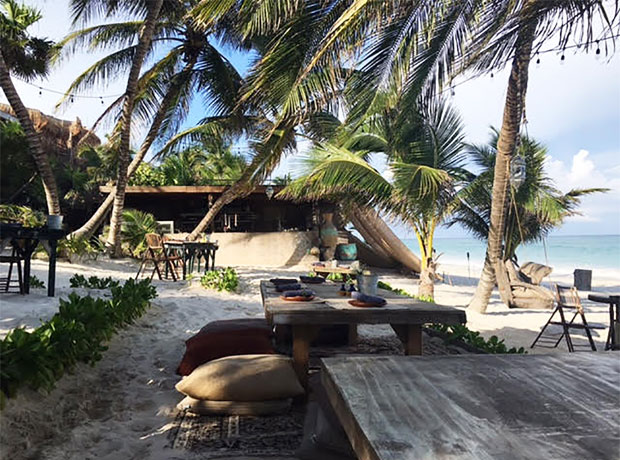
[[[352,208],[374,205],[414,231],[422,256],[419,294],[433,296],[435,229],[445,219],[463,169],[463,130],[457,114],[441,101],[418,112],[398,105],[352,131],[341,127],[335,141],[320,143],[308,172],[282,193],[294,198],[337,198]],[[345,134],[346,132],[346,134]],[[374,168],[371,153],[384,153],[392,178]]]

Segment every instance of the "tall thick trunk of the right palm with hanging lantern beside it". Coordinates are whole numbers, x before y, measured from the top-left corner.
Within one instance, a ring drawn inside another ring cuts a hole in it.
[[[527,4],[523,7],[526,8]],[[473,311],[484,313],[491,293],[495,286],[495,269],[502,261],[502,241],[504,236],[504,220],[506,199],[510,178],[510,160],[517,148],[525,94],[527,92],[528,65],[532,52],[536,24],[523,26],[517,37],[515,56],[508,79],[506,102],[502,128],[497,141],[497,157],[493,175],[491,201],[491,222],[487,241],[487,252],[480,281],[476,287],[474,298],[469,304]]]

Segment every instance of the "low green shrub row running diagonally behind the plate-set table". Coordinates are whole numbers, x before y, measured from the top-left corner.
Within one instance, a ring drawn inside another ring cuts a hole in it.
[[[409,294],[407,291],[403,289],[397,289],[390,286],[388,283],[384,283],[383,281],[379,281],[377,286],[381,289],[385,289],[386,291],[391,291],[396,294],[412,297],[417,300],[421,300],[423,302],[435,303],[433,299],[427,299],[423,297],[414,296]],[[434,329],[443,333],[446,336],[446,343],[454,343],[454,342],[464,342],[468,345],[471,345],[479,350],[485,351],[487,353],[526,353],[523,347],[516,348],[508,348],[506,344],[504,344],[503,340],[499,340],[499,338],[495,335],[491,336],[489,340],[486,340],[484,337],[480,335],[480,332],[472,331],[463,325],[455,325],[449,326],[447,324],[431,324],[429,328]]]

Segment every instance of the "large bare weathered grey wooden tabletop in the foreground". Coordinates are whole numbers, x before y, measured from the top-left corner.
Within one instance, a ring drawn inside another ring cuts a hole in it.
[[[336,357],[321,378],[359,460],[617,460],[618,358]]]

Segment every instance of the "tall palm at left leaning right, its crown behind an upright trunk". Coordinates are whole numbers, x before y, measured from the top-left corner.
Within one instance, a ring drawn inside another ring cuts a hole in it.
[[[167,1],[162,7],[150,54],[158,50],[163,50],[164,53],[140,77],[139,95],[133,112],[134,117],[147,126],[150,124],[150,127],[141,147],[128,166],[126,175],[128,179],[138,169],[153,142],[157,138],[174,133],[183,123],[192,99],[198,94],[205,97],[205,107],[216,111],[214,116],[202,120],[203,133],[221,135],[224,123],[229,133],[235,134],[244,129],[246,122],[244,114],[240,110],[234,110],[242,78],[210,42],[211,36],[223,33],[221,26],[214,25],[208,30],[198,31],[190,21],[183,20],[187,7],[188,3],[182,0]],[[86,13],[85,16],[91,16],[90,13]],[[67,95],[88,89],[106,81],[110,75],[126,69],[136,49],[136,45],[132,45],[132,42],[142,25],[143,21],[139,20],[107,23],[85,27],[69,34],[61,42],[68,53],[79,48],[120,49],[82,73],[71,84]],[[232,32],[225,35],[230,42],[235,40]],[[242,46],[241,43],[235,43],[237,46]],[[108,107],[98,123],[114,115],[122,102],[121,97]],[[110,192],[91,218],[73,234],[92,235],[109,212],[114,197],[115,192]]]

